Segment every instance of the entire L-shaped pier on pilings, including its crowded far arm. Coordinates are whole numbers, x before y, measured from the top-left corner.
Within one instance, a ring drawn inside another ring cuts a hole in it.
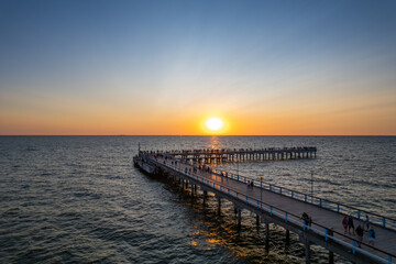
[[[191,150],[173,152],[139,152],[134,157],[138,167],[151,174],[157,174],[167,182],[190,188],[191,194],[212,193],[221,210],[221,200],[234,205],[238,226],[241,226],[241,211],[255,213],[257,222],[265,226],[265,249],[270,250],[270,224],[275,223],[298,235],[305,244],[305,260],[310,263],[310,245],[320,245],[329,251],[329,263],[338,254],[352,263],[395,263],[396,257],[396,219],[360,210],[320,197],[310,196],[293,189],[254,182],[252,178],[216,169],[208,162],[227,161],[267,161],[289,158],[314,158],[316,147],[264,148],[264,150]],[[287,153],[287,154],[286,154]],[[290,154],[293,153],[293,154]],[[276,158],[273,158],[273,155]],[[242,158],[244,157],[244,158]],[[283,157],[283,158],[282,158]],[[147,168],[148,167],[148,168]],[[312,218],[312,224],[301,220],[301,213]],[[374,227],[375,246],[366,240],[359,248],[358,237],[344,234],[341,226],[344,216],[352,216],[355,228],[363,227],[364,217],[370,216]]]

